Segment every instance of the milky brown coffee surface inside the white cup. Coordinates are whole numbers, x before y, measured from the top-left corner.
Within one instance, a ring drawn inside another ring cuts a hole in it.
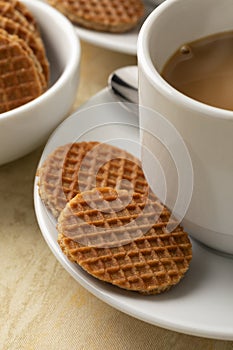
[[[233,111],[233,31],[182,45],[161,75],[183,94]]]

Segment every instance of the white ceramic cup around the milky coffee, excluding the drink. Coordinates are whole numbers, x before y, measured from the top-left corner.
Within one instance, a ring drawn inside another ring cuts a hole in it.
[[[233,254],[233,111],[185,96],[171,87],[160,72],[182,44],[233,30],[232,13],[232,0],[166,0],[144,22],[137,51],[139,105],[159,112],[172,123],[191,157],[194,186],[183,225],[202,243],[230,254]],[[143,131],[149,126],[156,132],[156,120],[152,114],[145,116],[145,109],[140,108],[142,142],[157,156],[161,149]],[[142,162],[152,188],[156,187],[152,162],[147,157],[142,157]]]

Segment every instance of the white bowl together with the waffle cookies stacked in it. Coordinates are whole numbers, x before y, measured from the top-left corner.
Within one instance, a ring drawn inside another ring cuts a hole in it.
[[[35,150],[69,114],[80,54],[59,11],[41,1],[0,0],[0,165]]]

